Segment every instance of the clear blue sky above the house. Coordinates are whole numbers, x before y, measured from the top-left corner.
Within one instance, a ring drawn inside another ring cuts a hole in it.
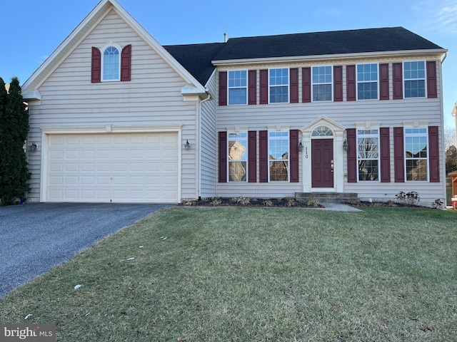
[[[97,0],[0,0],[0,77],[21,83],[98,4]],[[449,50],[443,63],[444,117],[455,122],[457,0],[119,0],[163,45],[230,37],[403,26]]]

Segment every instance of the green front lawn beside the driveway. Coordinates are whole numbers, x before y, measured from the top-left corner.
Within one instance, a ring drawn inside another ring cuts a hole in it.
[[[457,341],[456,246],[456,212],[163,209],[0,299],[0,322],[56,323],[57,341]]]

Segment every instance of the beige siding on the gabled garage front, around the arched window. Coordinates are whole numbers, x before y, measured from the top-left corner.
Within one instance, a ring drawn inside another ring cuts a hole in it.
[[[132,45],[131,81],[91,83],[91,47],[110,42]],[[89,33],[39,87],[41,104],[30,103],[29,154],[32,172],[29,198],[39,198],[41,129],[104,125],[182,125],[180,148],[196,141],[196,100],[184,101],[186,81],[159,56],[116,11]],[[181,158],[181,197],[196,197],[196,150]]]

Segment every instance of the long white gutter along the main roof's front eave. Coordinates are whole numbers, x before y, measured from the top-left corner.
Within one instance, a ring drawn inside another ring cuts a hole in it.
[[[250,65],[258,63],[268,63],[268,62],[303,62],[303,61],[325,61],[332,59],[346,59],[346,58],[369,58],[369,57],[386,57],[386,56],[401,56],[408,54],[411,55],[423,55],[439,53],[443,54],[448,53],[448,50],[445,48],[437,49],[424,49],[424,50],[402,50],[402,51],[376,51],[376,52],[362,52],[362,53],[335,53],[331,55],[312,55],[312,56],[287,56],[287,57],[267,57],[267,58],[242,58],[242,59],[228,59],[228,60],[216,60],[211,61],[214,66],[230,66],[233,64],[236,65]],[[445,58],[446,58],[445,56]]]

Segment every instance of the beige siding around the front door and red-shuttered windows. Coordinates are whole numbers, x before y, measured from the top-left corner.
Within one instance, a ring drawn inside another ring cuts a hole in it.
[[[430,61],[434,58],[414,58],[415,60]],[[403,61],[398,60],[398,61]],[[392,63],[393,61],[380,61],[379,63],[389,63],[390,73],[390,93],[393,94]],[[313,120],[324,116],[346,128],[356,128],[356,124],[380,124],[379,127],[390,128],[391,141],[391,182],[357,182],[348,183],[344,176],[344,192],[356,192],[360,197],[373,199],[395,199],[399,191],[417,191],[423,198],[423,203],[430,205],[435,199],[443,199],[443,175],[444,163],[440,162],[441,182],[394,182],[394,161],[393,161],[393,127],[402,127],[403,123],[420,123],[426,126],[436,125],[440,127],[440,154],[443,155],[443,117],[441,113],[441,68],[437,61],[437,88],[438,98],[407,98],[403,100],[358,100],[346,101],[346,65],[356,63],[375,63],[375,61],[348,61],[341,63],[326,62],[326,65],[343,65],[343,102],[312,102],[312,103],[276,103],[269,105],[226,105],[217,106],[217,131],[224,131],[227,127],[243,126],[248,130],[267,130],[268,126],[284,125],[290,129],[300,130]],[[377,63],[377,61],[376,61]],[[301,67],[312,65],[293,65],[299,68],[299,84],[301,85]],[[258,66],[258,69],[268,68],[268,66]],[[253,69],[253,68],[250,68]],[[258,80],[257,80],[258,81]],[[259,85],[257,84],[259,93]],[[299,98],[302,98],[302,89],[299,87]],[[345,135],[346,137],[346,135]],[[299,139],[302,139],[301,133]],[[257,140],[258,141],[258,140]],[[258,146],[258,143],[257,143]],[[311,157],[311,145],[308,146],[308,154]],[[336,165],[335,172],[347,173],[346,152],[334,150],[334,154],[344,153],[343,167]],[[246,197],[284,197],[293,196],[295,192],[303,191],[303,158],[305,152],[299,156],[299,180],[298,183],[248,183],[248,182],[217,182],[217,195],[221,197],[246,196]],[[258,169],[257,155],[257,169]],[[218,170],[219,172],[219,170]],[[258,170],[257,170],[258,175]],[[305,175],[305,177],[311,177]],[[258,179],[258,177],[257,177]],[[318,191],[318,190],[313,190]]]

